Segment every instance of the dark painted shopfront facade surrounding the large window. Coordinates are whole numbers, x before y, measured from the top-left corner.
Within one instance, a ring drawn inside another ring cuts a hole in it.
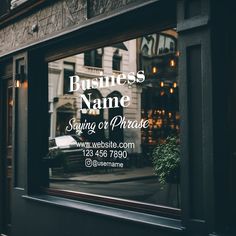
[[[6,75],[4,68],[13,65],[10,71],[15,79],[19,60],[23,61],[27,76],[27,85],[14,93],[17,103],[13,118],[10,235],[233,236],[236,47],[232,23],[235,15],[230,1],[84,2],[88,6],[88,20],[24,43],[9,53],[0,51],[1,86]],[[40,6],[47,4],[42,1]],[[73,4],[69,7],[73,8]],[[19,17],[23,19],[24,15]],[[4,25],[19,20],[12,19],[7,22],[4,18]],[[167,27],[176,27],[179,35],[182,143],[179,218],[163,218],[47,194],[42,190],[48,187],[48,171],[42,162],[48,148],[48,133],[42,129],[48,125],[47,63]],[[2,97],[0,105],[2,108]],[[3,120],[1,114],[1,132]],[[2,155],[4,141],[1,140],[0,145]],[[3,165],[1,159],[0,170]],[[4,232],[3,174],[0,180],[0,231]]]

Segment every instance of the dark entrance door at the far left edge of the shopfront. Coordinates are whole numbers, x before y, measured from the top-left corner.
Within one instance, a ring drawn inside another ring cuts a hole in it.
[[[0,235],[10,235],[12,189],[12,78],[0,76]]]

